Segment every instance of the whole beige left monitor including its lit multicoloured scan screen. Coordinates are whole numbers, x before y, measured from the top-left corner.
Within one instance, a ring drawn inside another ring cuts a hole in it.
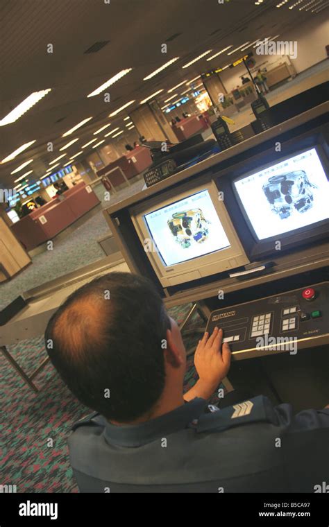
[[[172,189],[130,216],[163,287],[249,263],[213,181]]]

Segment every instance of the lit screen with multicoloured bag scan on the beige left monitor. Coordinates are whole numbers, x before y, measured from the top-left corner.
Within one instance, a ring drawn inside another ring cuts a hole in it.
[[[144,215],[166,266],[230,247],[208,190]]]

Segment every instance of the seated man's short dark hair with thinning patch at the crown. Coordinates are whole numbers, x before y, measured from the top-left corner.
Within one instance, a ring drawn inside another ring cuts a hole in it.
[[[72,293],[53,314],[46,349],[83,404],[109,420],[130,422],[147,415],[160,399],[165,386],[162,339],[169,327],[162,299],[149,280],[109,273]]]

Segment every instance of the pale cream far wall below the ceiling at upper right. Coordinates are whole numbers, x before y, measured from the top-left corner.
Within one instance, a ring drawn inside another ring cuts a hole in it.
[[[278,28],[278,32],[280,32],[280,28]],[[317,62],[326,59],[326,45],[329,44],[328,17],[326,17],[324,12],[312,15],[302,26],[294,28],[289,33],[281,33],[277,40],[296,41],[298,46],[297,57],[294,59],[285,55],[256,55],[255,49],[253,49],[253,58],[256,61],[256,67],[253,70],[257,70],[259,67],[272,69],[278,66],[280,62],[289,62],[290,60],[296,73],[301,73],[301,71],[310,68]],[[241,85],[241,76],[246,74],[246,68],[244,64],[241,64],[233,69],[224,70],[219,76],[223,85],[230,92],[233,88]]]

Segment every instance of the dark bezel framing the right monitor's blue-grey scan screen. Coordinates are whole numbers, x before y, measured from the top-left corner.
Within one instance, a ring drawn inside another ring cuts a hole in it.
[[[253,228],[253,224],[251,223],[249,217],[248,217],[248,214],[246,212],[246,209],[244,208],[244,205],[242,203],[242,200],[239,196],[239,193],[237,191],[237,188],[235,187],[235,182],[239,181],[239,180],[243,180],[245,178],[248,178],[248,176],[250,175],[253,175],[255,173],[258,173],[258,172],[261,172],[271,166],[274,166],[276,164],[280,164],[282,162],[284,162],[286,159],[291,159],[292,157],[295,157],[301,153],[304,153],[304,152],[307,152],[308,150],[317,150],[317,154],[319,156],[319,159],[320,159],[320,162],[322,164],[322,167],[323,167],[323,171],[325,172],[326,174],[326,178],[329,182],[329,162],[328,162],[328,159],[326,157],[326,154],[324,153],[324,150],[323,150],[323,147],[321,146],[321,144],[317,143],[317,144],[314,144],[313,146],[307,146],[305,148],[301,148],[301,149],[298,149],[296,151],[294,151],[293,153],[290,153],[288,155],[285,155],[283,157],[280,157],[280,159],[276,159],[275,162],[271,161],[269,163],[265,163],[265,164],[262,164],[260,166],[257,167],[257,169],[253,169],[251,171],[248,171],[242,175],[239,175],[237,178],[233,178],[232,182],[231,182],[231,187],[233,189],[233,194],[235,196],[235,200],[237,201],[237,205],[239,206],[239,211],[241,212],[243,218],[244,218],[244,221],[246,222],[246,224],[248,225],[248,229],[250,230],[250,233],[251,233],[251,236],[253,237],[253,240],[255,241],[255,243],[257,243],[258,245],[267,245],[273,241],[278,241],[278,240],[287,240],[289,238],[293,238],[294,236],[296,236],[297,234],[300,234],[300,233],[303,233],[303,232],[310,232],[314,229],[316,229],[317,227],[321,227],[322,225],[326,225],[326,223],[328,223],[329,225],[329,218],[327,219],[324,219],[324,220],[321,220],[321,221],[317,221],[316,223],[311,223],[310,225],[305,225],[304,227],[300,227],[298,229],[294,229],[294,230],[291,230],[291,231],[288,231],[288,232],[283,232],[282,234],[275,234],[274,236],[269,236],[268,238],[264,238],[264,239],[259,239],[258,238],[258,235],[256,234],[254,228]]]

